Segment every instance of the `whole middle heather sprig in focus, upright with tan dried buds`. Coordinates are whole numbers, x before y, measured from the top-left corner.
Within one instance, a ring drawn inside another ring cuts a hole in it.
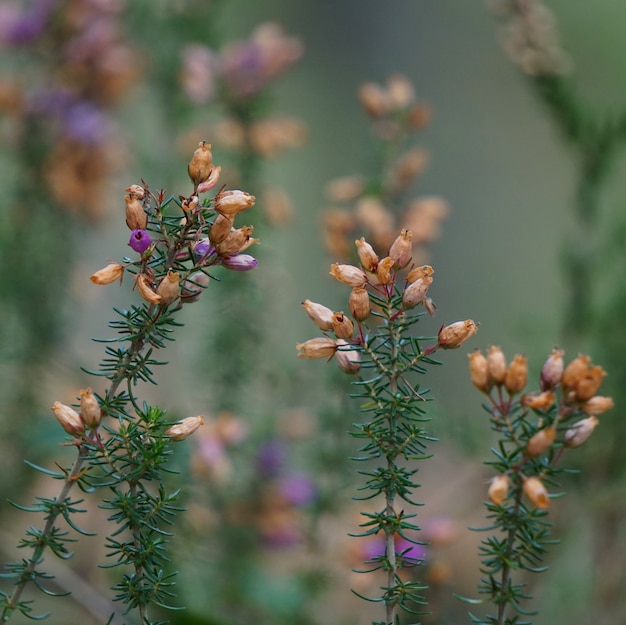
[[[362,513],[365,520],[354,536],[384,536],[384,552],[360,569],[382,576],[380,594],[363,596],[382,604],[384,619],[373,621],[380,624],[397,622],[401,611],[420,614],[426,605],[424,584],[407,576],[422,564],[414,549],[422,543],[416,515],[404,510],[418,505],[416,465],[428,457],[433,440],[425,426],[429,389],[421,376],[440,364],[433,354],[460,347],[477,331],[468,319],[441,326],[434,338],[416,332],[424,310],[434,313],[428,297],[433,269],[411,264],[411,238],[402,230],[383,258],[364,237],[357,240],[360,266],[334,263],[330,271],[350,288],[349,314],[306,300],[304,310],[324,335],[297,346],[300,358],[334,359],[355,376],[352,396],[360,402],[361,420],[351,435],[362,443],[354,460],[364,467],[356,499],[376,499],[380,505]]]

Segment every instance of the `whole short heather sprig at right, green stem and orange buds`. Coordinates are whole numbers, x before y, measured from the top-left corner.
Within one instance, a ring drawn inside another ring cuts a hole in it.
[[[613,399],[600,393],[606,372],[579,354],[567,365],[564,352],[555,348],[545,361],[536,391],[526,390],[527,359],[516,355],[507,363],[496,346],[487,354],[469,355],[474,386],[484,393],[491,426],[499,437],[495,459],[487,462],[492,477],[485,503],[493,534],[482,541],[482,583],[498,614],[476,623],[509,623],[509,611],[525,614],[521,602],[530,599],[524,583],[513,580],[517,570],[540,572],[550,538],[544,518],[565,452],[583,445],[599,423],[598,415],[613,407]],[[558,496],[558,493],[554,493]],[[472,603],[479,603],[472,600]],[[497,618],[497,620],[495,620]]]

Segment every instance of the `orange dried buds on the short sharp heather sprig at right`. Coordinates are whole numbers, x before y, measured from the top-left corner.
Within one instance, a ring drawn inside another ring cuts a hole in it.
[[[535,426],[526,438],[519,439],[523,457],[528,460],[545,454],[560,454],[565,448],[579,447],[598,425],[597,415],[613,407],[613,399],[598,395],[606,372],[592,365],[589,356],[579,354],[565,366],[563,350],[555,348],[541,370],[540,390],[523,393],[528,366],[526,356],[516,355],[507,364],[499,347],[489,348],[487,355],[479,350],[469,355],[472,383],[490,400],[494,421],[500,427],[511,427],[508,415],[514,409],[531,410],[537,415]],[[573,424],[568,421],[580,417]],[[551,456],[552,457],[552,456]],[[554,456],[552,462],[558,459]],[[525,475],[524,460],[513,472],[521,478],[524,492],[538,508],[545,509],[550,500],[541,476]],[[489,499],[502,504],[509,493],[511,475],[496,476],[489,487]]]

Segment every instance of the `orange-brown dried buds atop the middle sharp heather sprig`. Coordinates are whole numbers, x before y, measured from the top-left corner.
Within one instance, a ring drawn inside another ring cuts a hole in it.
[[[305,300],[302,307],[313,323],[325,332],[318,337],[296,346],[299,358],[336,357],[337,364],[346,373],[360,370],[361,347],[365,343],[363,324],[372,309],[380,308],[381,302],[388,303],[384,311],[387,321],[398,319],[407,310],[423,305],[434,314],[435,305],[428,297],[433,282],[430,265],[415,267],[412,260],[412,233],[402,230],[389,248],[387,256],[379,258],[364,237],[355,241],[360,266],[334,263],[330,274],[351,288],[348,298],[350,315],[333,311],[323,304]],[[402,277],[401,273],[406,271]],[[401,297],[394,297],[394,295]],[[396,309],[392,309],[397,303]],[[457,321],[439,330],[436,345],[429,348],[432,353],[438,348],[453,349],[469,339],[478,327],[471,319]]]

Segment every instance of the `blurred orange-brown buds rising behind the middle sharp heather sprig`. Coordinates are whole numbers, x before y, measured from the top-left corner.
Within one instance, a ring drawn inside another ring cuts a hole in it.
[[[354,233],[364,231],[375,247],[385,249],[403,227],[415,233],[414,260],[425,261],[423,248],[439,237],[448,206],[439,197],[406,200],[404,195],[428,163],[427,151],[409,140],[428,124],[430,108],[417,100],[413,85],[400,74],[392,75],[386,85],[364,83],[358,96],[373,133],[387,144],[381,150],[387,160],[367,179],[349,175],[328,184],[326,246],[335,257],[347,258]]]

